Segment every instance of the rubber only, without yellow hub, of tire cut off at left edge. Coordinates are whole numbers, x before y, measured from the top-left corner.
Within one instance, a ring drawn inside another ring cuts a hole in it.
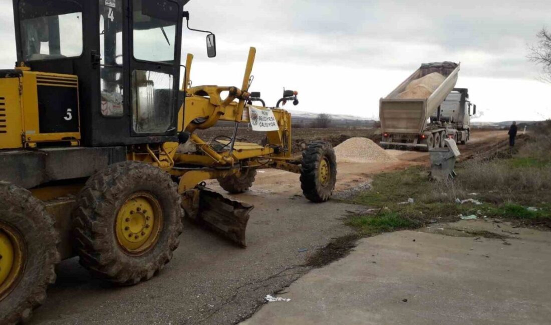
[[[29,320],[55,283],[60,239],[54,219],[31,192],[0,181],[0,198],[0,222],[16,229],[26,247],[23,273],[7,296],[0,296],[0,324],[17,324]]]

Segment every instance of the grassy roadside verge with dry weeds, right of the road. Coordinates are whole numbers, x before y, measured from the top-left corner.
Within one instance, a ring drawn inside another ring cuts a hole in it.
[[[547,127],[551,134],[551,124]],[[551,229],[548,133],[532,137],[518,152],[459,163],[456,171],[455,180],[443,182],[430,181],[429,169],[423,167],[376,175],[372,188],[351,200],[371,208],[369,213],[351,216],[346,224],[362,236],[372,236],[475,215]]]

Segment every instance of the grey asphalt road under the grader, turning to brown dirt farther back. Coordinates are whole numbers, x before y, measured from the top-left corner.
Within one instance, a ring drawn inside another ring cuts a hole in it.
[[[501,136],[474,135],[474,151]],[[427,154],[396,152],[393,164],[341,164],[338,191],[365,183],[379,172],[426,163]],[[186,224],[180,248],[158,277],[130,288],[91,279],[78,261],[57,268],[57,282],[31,324],[229,324],[251,315],[272,294],[309,271],[307,256],[351,230],[341,218],[361,208],[335,201],[307,202],[298,175],[262,170],[253,191],[247,229],[249,248],[240,249],[193,224]],[[304,251],[306,250],[306,251]]]

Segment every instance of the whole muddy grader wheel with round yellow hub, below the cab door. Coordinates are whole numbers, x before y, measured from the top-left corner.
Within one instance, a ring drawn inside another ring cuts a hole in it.
[[[170,175],[122,162],[91,177],[80,192],[74,235],[80,264],[122,285],[149,280],[180,244],[183,210]]]

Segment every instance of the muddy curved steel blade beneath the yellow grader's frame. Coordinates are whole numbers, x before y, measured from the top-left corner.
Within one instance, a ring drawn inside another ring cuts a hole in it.
[[[249,214],[255,208],[249,203],[210,190],[204,186],[186,191],[182,195],[186,217],[213,230],[241,247],[246,247],[246,230]]]

